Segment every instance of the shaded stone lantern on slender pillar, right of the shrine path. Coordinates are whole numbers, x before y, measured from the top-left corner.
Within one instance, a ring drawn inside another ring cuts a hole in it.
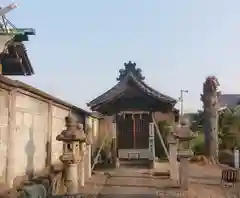
[[[182,118],[180,120],[181,127],[178,128],[175,138],[178,139],[178,158],[180,161],[179,167],[179,182],[183,190],[188,190],[189,179],[189,158],[193,155],[190,150],[190,141],[194,139],[192,131],[190,130],[188,119]]]

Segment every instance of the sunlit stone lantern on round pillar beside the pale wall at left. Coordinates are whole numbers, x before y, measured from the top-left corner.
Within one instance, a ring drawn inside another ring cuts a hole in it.
[[[79,130],[77,121],[73,117],[67,116],[65,122],[67,129],[62,131],[56,139],[63,142],[63,154],[59,159],[64,164],[67,194],[75,194],[79,192],[78,164],[83,158],[82,145],[86,137],[83,130]]]

